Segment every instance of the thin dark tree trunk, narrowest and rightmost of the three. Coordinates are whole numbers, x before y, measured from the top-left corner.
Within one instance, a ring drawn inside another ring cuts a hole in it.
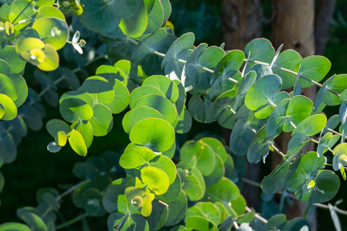
[[[336,0],[319,0],[315,17],[314,41],[317,55],[324,55]]]

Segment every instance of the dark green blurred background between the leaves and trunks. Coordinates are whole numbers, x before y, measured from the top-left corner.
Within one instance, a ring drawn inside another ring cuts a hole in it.
[[[171,0],[172,14],[170,21],[175,26],[177,36],[186,32],[194,32],[196,44],[201,42],[209,45],[219,46],[221,41],[221,1],[216,0]],[[263,11],[266,19],[271,18],[271,0],[263,0]],[[332,74],[341,74],[347,72],[347,1],[338,0],[336,11],[332,20],[329,41],[325,49],[324,56],[331,61],[331,70],[327,78]],[[265,20],[268,21],[268,20]],[[305,23],[305,22],[303,22]],[[263,25],[263,37],[271,41],[270,24]],[[92,75],[98,65],[105,63],[100,60],[88,67],[88,72]],[[29,66],[29,65],[27,65]],[[73,68],[73,67],[72,67]],[[27,68],[25,78],[28,85],[39,91],[31,76],[32,70]],[[324,81],[324,80],[323,80]],[[60,95],[65,90],[61,89]],[[47,116],[44,117],[44,125],[52,118],[61,118],[59,109],[44,104],[47,110]],[[125,112],[127,109],[125,110]],[[338,107],[327,107],[324,109],[325,114],[330,117],[338,113]],[[114,124],[112,131],[103,137],[94,137],[94,142],[88,149],[87,157],[99,156],[105,150],[121,152],[122,149],[130,142],[128,135],[124,132],[121,120],[125,113],[114,115]],[[218,124],[201,124],[193,121],[192,130],[180,140],[191,139],[199,132],[208,131],[213,134],[222,135],[222,128]],[[58,153],[50,153],[46,145],[52,141],[51,136],[45,128],[41,131],[29,130],[28,135],[18,146],[18,156],[15,162],[5,165],[1,168],[5,176],[5,187],[0,194],[0,223],[8,221],[19,221],[16,216],[16,209],[23,206],[36,206],[36,191],[41,187],[58,188],[60,184],[76,184],[78,179],[73,175],[72,169],[76,162],[85,161],[86,157],[78,156],[74,153],[69,145],[64,147]],[[262,176],[268,175],[271,171],[270,161],[262,165]],[[328,161],[329,162],[329,161]],[[331,161],[330,161],[331,162]],[[341,178],[341,186],[333,202],[346,197],[347,183]],[[63,190],[60,189],[60,192]],[[82,213],[71,203],[67,197],[64,199],[61,212],[65,218],[71,219]],[[276,203],[277,201],[275,201]],[[342,209],[347,209],[347,200],[339,205]],[[256,207],[261,212],[261,203]],[[332,230],[331,217],[328,210],[318,208],[318,230]],[[268,214],[269,215],[269,214]],[[347,225],[346,217],[339,215],[342,227]],[[265,214],[265,217],[267,215]],[[106,227],[106,218],[88,218],[92,230],[103,230]],[[58,222],[59,218],[58,218]],[[80,230],[79,224],[71,226],[74,230]]]

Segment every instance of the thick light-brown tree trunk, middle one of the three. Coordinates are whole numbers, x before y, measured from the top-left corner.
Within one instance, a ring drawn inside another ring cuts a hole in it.
[[[314,55],[314,0],[272,0],[272,41],[275,48],[283,44],[283,50],[294,49],[302,57]],[[305,88],[302,95],[313,100],[316,95],[316,86]],[[282,152],[287,151],[290,134],[282,134],[277,139],[278,148]],[[314,144],[310,142],[301,151],[314,150]],[[272,155],[272,167],[276,167],[282,160],[279,155]],[[303,216],[306,203],[295,201],[288,206],[288,219]],[[311,230],[316,230],[316,214],[309,219]]]

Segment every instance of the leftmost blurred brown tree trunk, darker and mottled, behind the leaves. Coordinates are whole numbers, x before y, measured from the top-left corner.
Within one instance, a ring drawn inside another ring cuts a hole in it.
[[[247,43],[261,37],[262,7],[260,0],[223,0],[222,29],[223,42],[226,50],[244,50]],[[223,136],[229,142],[230,130],[223,128]],[[247,161],[248,163],[248,161]],[[259,182],[260,165],[248,163],[245,178]],[[243,196],[248,206],[254,207],[259,203],[260,188],[244,185]]]

